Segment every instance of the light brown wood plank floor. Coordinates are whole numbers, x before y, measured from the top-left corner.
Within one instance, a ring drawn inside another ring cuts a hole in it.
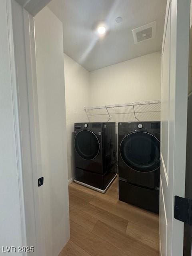
[[[69,185],[70,240],[59,256],[158,256],[158,215],[106,194]]]

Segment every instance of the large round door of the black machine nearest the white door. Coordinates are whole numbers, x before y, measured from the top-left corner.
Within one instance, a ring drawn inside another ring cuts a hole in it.
[[[139,172],[151,172],[160,166],[160,141],[147,132],[133,132],[120,144],[124,163]]]

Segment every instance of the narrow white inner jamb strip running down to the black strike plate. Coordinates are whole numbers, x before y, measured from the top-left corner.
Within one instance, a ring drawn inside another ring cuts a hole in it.
[[[38,254],[45,256],[44,218],[40,215],[43,208],[43,194],[37,186],[37,180],[42,176],[40,129],[38,115],[38,95],[36,77],[36,50],[34,17],[24,10],[24,36],[26,50],[26,78],[28,88],[28,108],[30,122],[30,142],[32,158],[32,180],[34,193],[34,211],[36,225],[36,240]]]

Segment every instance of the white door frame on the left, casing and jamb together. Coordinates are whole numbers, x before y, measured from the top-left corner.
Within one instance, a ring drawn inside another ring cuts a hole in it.
[[[18,2],[22,2],[23,6]],[[6,0],[22,222],[21,246],[34,246],[34,256],[46,256],[40,220],[42,193],[38,188],[42,169],[34,15],[48,2],[50,0]]]

